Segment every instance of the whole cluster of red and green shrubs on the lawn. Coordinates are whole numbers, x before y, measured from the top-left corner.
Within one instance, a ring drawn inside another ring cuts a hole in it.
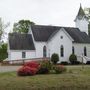
[[[19,76],[32,76],[36,74],[48,74],[54,71],[56,74],[66,71],[63,65],[53,65],[49,60],[41,62],[30,61],[25,63],[18,71]]]

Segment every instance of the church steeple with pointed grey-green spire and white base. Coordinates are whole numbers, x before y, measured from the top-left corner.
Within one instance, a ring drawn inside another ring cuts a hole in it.
[[[76,27],[79,28],[82,32],[86,32],[88,34],[88,18],[85,15],[85,12],[80,4],[80,8],[78,14],[75,19]]]

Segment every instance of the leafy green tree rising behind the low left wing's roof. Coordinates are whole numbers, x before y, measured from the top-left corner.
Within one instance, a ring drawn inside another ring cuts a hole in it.
[[[30,25],[34,25],[35,23],[29,20],[20,20],[18,23],[14,23],[13,31],[19,33],[27,33]]]

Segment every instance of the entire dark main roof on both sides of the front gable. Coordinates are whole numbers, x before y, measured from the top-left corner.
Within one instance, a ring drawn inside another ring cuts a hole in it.
[[[32,25],[31,29],[35,41],[48,41],[51,36],[55,35],[61,28],[74,39],[76,43],[90,43],[90,38],[85,32],[81,32],[78,28],[73,27],[59,27],[59,26],[45,26],[45,25]]]

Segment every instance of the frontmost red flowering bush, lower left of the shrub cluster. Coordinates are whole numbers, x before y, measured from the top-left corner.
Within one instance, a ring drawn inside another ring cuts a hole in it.
[[[28,66],[21,67],[17,72],[17,74],[19,76],[35,75],[36,73],[37,73],[36,68],[31,68],[31,67],[28,67]]]

